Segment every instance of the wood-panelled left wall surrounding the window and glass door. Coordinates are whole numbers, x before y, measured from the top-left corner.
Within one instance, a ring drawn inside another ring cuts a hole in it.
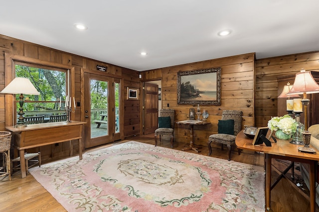
[[[126,100],[126,87],[140,87],[140,79],[138,75],[138,71],[118,67],[112,64],[108,64],[101,61],[96,61],[93,59],[88,59],[85,57],[73,55],[70,53],[62,52],[59,50],[51,49],[48,47],[40,46],[37,44],[29,43],[26,41],[6,37],[0,35],[0,90],[2,90],[5,86],[5,72],[4,72],[4,54],[9,54],[13,56],[22,56],[28,58],[28,60],[36,60],[36,61],[43,61],[44,63],[52,63],[52,64],[61,64],[67,65],[75,70],[74,76],[74,95],[75,101],[81,100],[81,68],[87,70],[96,70],[97,65],[102,65],[107,67],[106,74],[114,75],[114,77],[121,77],[124,79],[124,86],[122,85],[122,102],[124,102],[124,132],[123,136],[134,136],[140,134],[140,113],[139,113],[139,102],[131,102]],[[97,71],[99,72],[99,71]],[[73,79],[73,78],[72,78]],[[82,104],[82,103],[81,103]],[[81,107],[78,107],[79,110],[76,111],[75,120],[81,121],[83,119],[83,114],[81,114]],[[9,109],[7,109],[9,110]],[[136,111],[138,112],[136,112]],[[132,113],[134,111],[135,113]],[[4,94],[0,94],[0,131],[5,131],[5,126],[12,125],[12,120],[6,122],[5,120],[5,100]],[[12,119],[12,118],[11,118]],[[134,127],[135,130],[132,130]],[[74,146],[77,148],[77,145]],[[42,148],[42,147],[41,147]],[[59,146],[45,146],[45,149],[42,149],[41,153],[42,157],[49,157],[50,154],[53,155],[52,152],[56,156],[66,156],[69,151],[68,143],[63,143]],[[47,154],[47,155],[45,155]],[[52,156],[51,155],[51,156]]]

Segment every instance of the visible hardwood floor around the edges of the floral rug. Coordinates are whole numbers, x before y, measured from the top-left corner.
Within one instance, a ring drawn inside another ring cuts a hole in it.
[[[126,141],[140,141],[144,143],[154,144],[154,136],[147,135],[136,137],[131,140],[118,141],[97,148],[117,145]],[[159,146],[170,147],[169,141],[158,141]],[[185,143],[174,142],[174,149],[180,150]],[[227,159],[227,148],[222,151],[220,145],[212,144],[213,157]],[[88,149],[93,151],[97,148]],[[208,147],[202,146],[199,154],[207,155]],[[190,151],[190,150],[189,150]],[[194,151],[191,151],[195,153]],[[232,151],[231,159],[238,162],[263,166],[264,156],[250,151],[242,151],[238,155],[236,149]],[[45,163],[48,161],[42,162]],[[287,167],[283,161],[273,161],[276,167],[283,170]],[[274,168],[272,169],[274,170]],[[297,178],[300,175],[298,170],[295,171]],[[278,175],[273,171],[273,175]],[[282,179],[272,190],[271,208],[273,212],[308,212],[310,211],[309,198],[303,195],[298,188],[293,186],[290,181]],[[0,211],[3,212],[65,212],[65,209],[39,184],[31,174],[27,174],[26,178],[21,179],[20,173],[16,172],[9,181],[8,177],[0,178]],[[319,210],[317,210],[319,211]]]

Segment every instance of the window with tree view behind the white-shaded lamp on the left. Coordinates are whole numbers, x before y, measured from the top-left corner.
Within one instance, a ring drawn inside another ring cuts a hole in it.
[[[52,70],[48,68],[31,67],[24,64],[15,65],[15,76],[30,79],[40,95],[24,95],[24,116],[59,114],[60,98],[61,108],[64,108],[67,94],[67,70]],[[19,100],[16,95],[16,100]],[[16,110],[18,111],[18,102]],[[63,111],[64,112],[64,111]],[[62,113],[63,113],[62,112]]]

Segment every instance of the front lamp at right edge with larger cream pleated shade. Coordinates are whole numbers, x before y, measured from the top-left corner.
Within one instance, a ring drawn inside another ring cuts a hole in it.
[[[305,131],[308,130],[308,105],[310,102],[310,100],[307,99],[307,94],[311,93],[319,93],[319,85],[310,71],[301,70],[299,73],[296,73],[294,85],[287,95],[303,94],[303,99],[301,101],[305,113]]]

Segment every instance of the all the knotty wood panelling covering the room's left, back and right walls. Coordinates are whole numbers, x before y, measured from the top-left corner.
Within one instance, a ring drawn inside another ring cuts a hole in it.
[[[74,67],[75,99],[81,99],[80,70],[96,70],[96,65],[107,67],[107,72],[124,79],[123,95],[124,102],[124,131],[123,137],[134,137],[142,132],[141,110],[142,96],[140,101],[127,100],[127,87],[142,88],[139,72],[114,66],[105,62],[95,61],[55,49],[36,45],[33,43],[9,38],[0,35],[0,90],[4,88],[4,53],[10,55],[34,58],[37,60],[69,65]],[[221,68],[221,105],[200,105],[209,113],[208,121],[211,123],[205,127],[194,128],[194,143],[206,146],[209,135],[217,133],[218,119],[226,109],[243,111],[243,126],[267,126],[272,116],[277,116],[277,77],[284,74],[297,73],[302,68],[307,71],[319,71],[319,52],[300,53],[295,55],[281,56],[255,60],[255,53],[238,56],[166,67],[156,70],[143,71],[143,81],[162,80],[161,101],[162,107],[175,109],[176,121],[188,119],[189,108],[197,105],[177,104],[177,72],[193,71],[209,68]],[[76,120],[81,120],[82,114],[78,110]],[[0,94],[0,131],[5,130],[5,107],[4,95]],[[189,142],[189,129],[175,124],[174,140]],[[51,148],[51,147],[47,147]],[[68,145],[47,149],[46,152],[57,152],[57,155],[67,154]]]

